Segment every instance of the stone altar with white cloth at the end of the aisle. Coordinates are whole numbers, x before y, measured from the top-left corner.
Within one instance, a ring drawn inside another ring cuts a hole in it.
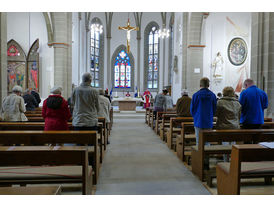
[[[142,102],[141,98],[132,98],[132,97],[125,97],[125,98],[113,98],[112,100],[114,103],[118,102],[119,110],[120,111],[136,111],[136,104],[137,102]]]

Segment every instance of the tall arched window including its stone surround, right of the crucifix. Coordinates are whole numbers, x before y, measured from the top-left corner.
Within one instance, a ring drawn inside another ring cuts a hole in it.
[[[145,29],[145,85],[158,90],[159,85],[159,26],[151,22]]]

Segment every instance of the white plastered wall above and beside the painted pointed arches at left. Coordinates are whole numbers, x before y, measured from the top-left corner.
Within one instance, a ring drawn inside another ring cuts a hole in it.
[[[14,39],[25,54],[39,38],[39,88],[41,98],[49,95],[54,82],[54,50],[49,48],[46,22],[42,12],[8,12],[7,41]]]

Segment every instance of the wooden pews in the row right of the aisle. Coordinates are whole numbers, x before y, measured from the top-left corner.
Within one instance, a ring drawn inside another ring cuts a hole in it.
[[[270,159],[273,161],[273,159],[264,157],[260,157],[260,159],[255,157],[256,153],[251,152],[253,149],[254,151],[263,151],[262,154],[264,155],[273,152],[273,150],[261,145],[256,146],[259,142],[274,142],[274,122],[272,122],[272,118],[265,118],[262,129],[236,130],[214,129],[216,122],[216,118],[214,118],[213,130],[201,131],[197,146],[192,117],[177,117],[173,111],[168,111],[157,112],[156,118],[153,120],[153,109],[147,108],[145,122],[167,144],[168,148],[176,153],[181,161],[186,165],[191,165],[192,172],[201,181],[206,181],[209,187],[213,187],[212,180],[217,177],[218,194],[240,194],[241,178],[260,177],[265,179],[265,184],[271,184],[272,182],[274,162],[266,161]],[[153,125],[155,125],[154,128]],[[223,145],[223,142],[233,143],[234,145]],[[252,144],[250,145],[250,143]],[[234,155],[234,153],[237,153],[237,155]],[[241,160],[239,154],[242,153],[251,155],[251,157],[245,157]],[[230,162],[222,162],[223,155],[231,155]],[[254,159],[252,159],[253,157]],[[217,165],[211,163],[209,169],[205,168],[205,160],[211,158],[217,159]],[[258,159],[263,162],[256,162]],[[241,161],[251,161],[252,163],[244,163],[241,167],[239,165]],[[237,184],[233,183],[232,186],[232,179],[234,182],[237,181]]]

